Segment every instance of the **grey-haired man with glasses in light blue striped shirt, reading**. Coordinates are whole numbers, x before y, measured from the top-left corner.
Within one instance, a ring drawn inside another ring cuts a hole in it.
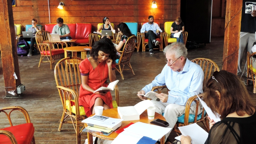
[[[146,85],[138,94],[146,94],[154,86],[164,86],[170,90],[168,94],[156,94],[160,102],[151,100],[155,104],[156,112],[163,114],[166,121],[173,128],[178,117],[185,114],[187,100],[196,94],[203,93],[203,70],[187,58],[186,46],[181,42],[174,42],[163,50],[166,56],[166,65],[162,72],[155,79]],[[142,100],[146,97],[139,96]],[[191,104],[190,114],[195,114],[195,102]],[[198,114],[202,112],[199,106]],[[170,133],[165,135],[167,139]],[[169,139],[166,144],[169,144]]]

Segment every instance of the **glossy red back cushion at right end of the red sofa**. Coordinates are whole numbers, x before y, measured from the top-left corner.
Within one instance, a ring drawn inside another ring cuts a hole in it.
[[[90,23],[77,23],[75,39],[87,39],[89,38],[89,34],[91,32],[92,32],[92,25]]]

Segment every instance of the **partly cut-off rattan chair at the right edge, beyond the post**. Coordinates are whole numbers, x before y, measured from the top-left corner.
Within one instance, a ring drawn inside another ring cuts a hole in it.
[[[247,85],[249,85],[249,81],[253,82],[253,93],[256,93],[256,82],[255,82],[255,75],[256,75],[256,69],[253,67],[253,61],[252,56],[256,54],[250,54],[250,52],[247,52]]]

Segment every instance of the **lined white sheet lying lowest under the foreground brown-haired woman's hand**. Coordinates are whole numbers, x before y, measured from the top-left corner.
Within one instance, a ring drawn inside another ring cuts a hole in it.
[[[178,127],[182,135],[189,135],[192,144],[204,144],[208,138],[208,133],[196,123],[187,126]],[[177,138],[177,137],[176,137]]]

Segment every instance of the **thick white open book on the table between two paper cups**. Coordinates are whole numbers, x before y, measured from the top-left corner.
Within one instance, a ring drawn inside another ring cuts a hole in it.
[[[117,107],[118,114],[123,121],[139,120],[142,114],[148,107],[154,106],[150,100],[145,100],[137,103],[135,106]]]

